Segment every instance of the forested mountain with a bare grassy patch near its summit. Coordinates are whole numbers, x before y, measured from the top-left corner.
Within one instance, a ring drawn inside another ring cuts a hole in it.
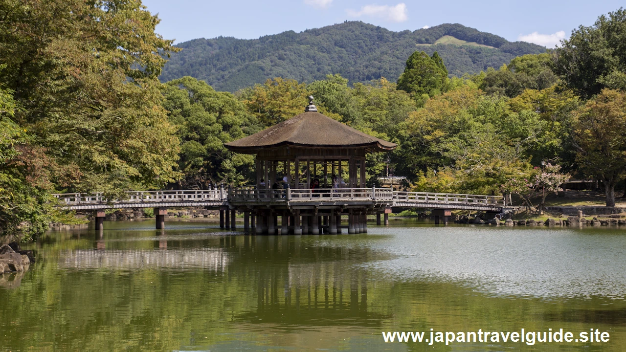
[[[311,82],[329,73],[340,73],[350,83],[381,77],[396,81],[416,50],[438,51],[454,76],[498,68],[516,56],[546,51],[543,46],[510,42],[461,24],[394,32],[361,21],[259,39],[193,39],[177,46],[183,50],[172,54],[163,68],[163,82],[193,76],[225,91],[274,77]]]

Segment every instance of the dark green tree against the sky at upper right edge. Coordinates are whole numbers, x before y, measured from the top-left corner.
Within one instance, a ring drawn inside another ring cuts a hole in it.
[[[583,98],[603,88],[626,90],[626,9],[578,27],[555,53],[555,73]]]

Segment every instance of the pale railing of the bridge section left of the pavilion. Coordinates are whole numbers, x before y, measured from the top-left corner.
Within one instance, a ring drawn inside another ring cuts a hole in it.
[[[116,204],[124,203],[150,203],[150,202],[193,202],[193,201],[223,201],[226,199],[226,192],[218,189],[210,190],[147,190],[125,192],[124,199],[114,199],[111,202]],[[109,199],[101,192],[90,194],[85,193],[64,193],[53,194],[56,199],[66,205],[77,204],[104,204]]]

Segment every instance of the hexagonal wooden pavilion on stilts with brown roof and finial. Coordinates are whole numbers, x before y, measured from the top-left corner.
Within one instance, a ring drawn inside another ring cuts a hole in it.
[[[255,185],[230,190],[230,210],[244,212],[246,228],[252,214],[255,233],[276,234],[280,216],[281,234],[336,234],[342,215],[349,233],[366,232],[366,215],[384,211],[392,199],[391,190],[366,187],[366,155],[396,144],[322,115],[309,100],[304,113],[224,144],[256,155]]]

